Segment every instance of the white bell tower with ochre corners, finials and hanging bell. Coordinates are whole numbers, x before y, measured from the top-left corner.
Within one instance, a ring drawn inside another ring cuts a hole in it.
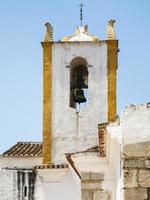
[[[114,20],[103,41],[82,25],[53,41],[53,28],[45,25],[43,164],[59,164],[65,153],[97,145],[98,124],[116,119],[118,41]]]

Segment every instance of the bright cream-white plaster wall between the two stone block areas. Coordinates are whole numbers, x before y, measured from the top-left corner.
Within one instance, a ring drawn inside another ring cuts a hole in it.
[[[107,127],[107,156],[99,157],[93,153],[72,156],[75,167],[81,172],[104,174],[102,189],[111,193],[111,200],[121,200],[122,182],[120,177],[120,153],[122,138],[120,126],[112,123]]]

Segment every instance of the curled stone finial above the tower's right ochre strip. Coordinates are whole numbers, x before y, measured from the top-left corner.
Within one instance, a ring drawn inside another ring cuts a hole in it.
[[[107,40],[116,40],[116,34],[114,29],[114,19],[109,20],[107,24]]]

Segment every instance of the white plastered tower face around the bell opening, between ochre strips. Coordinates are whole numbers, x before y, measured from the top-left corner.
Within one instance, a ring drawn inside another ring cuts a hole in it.
[[[88,63],[88,105],[79,114],[69,107],[72,59]],[[64,153],[97,144],[98,123],[107,121],[107,43],[54,43],[52,49],[52,132],[55,163],[64,162]]]

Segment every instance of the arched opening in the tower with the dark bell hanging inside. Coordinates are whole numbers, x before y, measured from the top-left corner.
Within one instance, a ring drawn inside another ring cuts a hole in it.
[[[86,107],[88,99],[87,61],[82,57],[76,57],[70,66],[70,107],[79,111],[78,108]]]

